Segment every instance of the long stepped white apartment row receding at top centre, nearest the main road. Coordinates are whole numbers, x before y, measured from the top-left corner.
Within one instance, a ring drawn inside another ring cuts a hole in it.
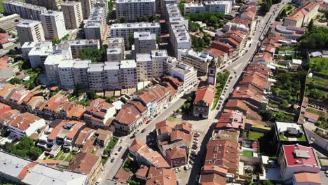
[[[182,17],[177,4],[166,5],[166,19],[169,24],[170,42],[175,56],[179,49],[191,48],[191,36],[188,32],[188,20]]]

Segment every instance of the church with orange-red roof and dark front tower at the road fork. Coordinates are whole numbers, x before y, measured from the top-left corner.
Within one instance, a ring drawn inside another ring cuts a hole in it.
[[[214,85],[203,85],[196,90],[196,97],[193,101],[193,116],[208,118],[212,109],[215,96]]]

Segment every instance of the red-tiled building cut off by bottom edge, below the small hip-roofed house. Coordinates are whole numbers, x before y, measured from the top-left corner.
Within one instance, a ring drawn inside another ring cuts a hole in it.
[[[177,177],[172,169],[149,167],[146,185],[177,185]]]

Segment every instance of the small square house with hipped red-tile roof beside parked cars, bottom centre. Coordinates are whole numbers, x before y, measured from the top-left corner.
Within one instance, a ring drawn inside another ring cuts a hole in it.
[[[170,167],[178,167],[186,165],[187,154],[184,149],[174,147],[166,151],[165,159],[166,161],[168,161]]]

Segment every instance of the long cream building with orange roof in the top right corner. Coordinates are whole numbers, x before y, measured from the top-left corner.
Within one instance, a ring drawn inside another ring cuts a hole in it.
[[[311,19],[315,18],[320,4],[315,1],[308,1],[302,7],[297,8],[284,20],[284,26],[304,27]]]

